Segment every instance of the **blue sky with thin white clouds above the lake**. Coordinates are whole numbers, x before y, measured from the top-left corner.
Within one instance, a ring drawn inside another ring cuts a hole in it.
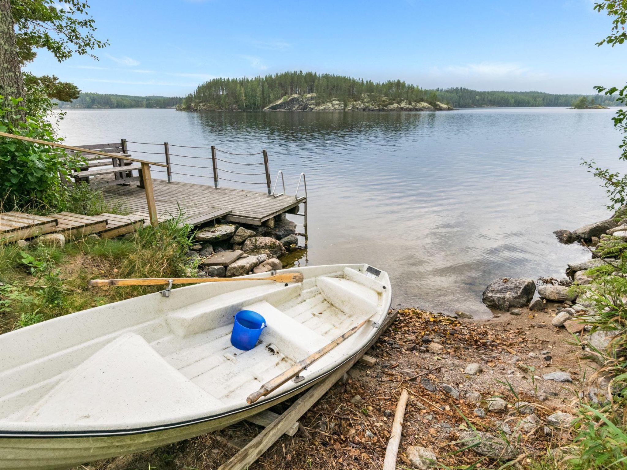
[[[591,0],[91,0],[100,60],[28,70],[83,91],[182,96],[214,76],[313,70],[424,88],[593,93],[627,78]]]

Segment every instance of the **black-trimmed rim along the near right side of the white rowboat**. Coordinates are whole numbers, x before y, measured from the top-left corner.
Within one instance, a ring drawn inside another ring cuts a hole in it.
[[[383,316],[379,325],[377,326],[373,325],[372,326],[373,328],[377,328],[377,329],[381,328],[381,325],[384,324],[387,316],[390,315],[390,307],[392,305],[392,287],[391,286],[389,286],[388,292],[389,292],[389,302],[387,303],[387,307],[385,309],[382,309],[382,311],[385,312],[385,315]],[[371,348],[372,345],[374,345],[374,343],[377,342],[380,336],[381,336],[381,333],[374,335],[371,338],[371,340],[367,342],[364,345],[364,347],[357,350],[357,352],[345,358],[345,360],[338,363],[337,365],[335,365],[335,367],[331,368],[327,372],[322,373],[321,375],[316,375],[315,377],[311,377],[310,380],[305,379],[302,385],[298,385],[297,387],[286,390],[280,395],[271,397],[271,399],[269,400],[256,402],[256,404],[246,405],[244,407],[233,409],[228,412],[223,412],[221,414],[209,415],[206,417],[195,418],[195,419],[186,420],[186,421],[179,421],[179,422],[174,422],[170,424],[160,424],[157,426],[138,427],[138,428],[131,428],[131,429],[106,429],[106,430],[105,429],[103,430],[87,430],[86,429],[85,431],[28,431],[28,432],[3,431],[0,429],[0,439],[68,439],[68,438],[85,438],[85,437],[133,436],[137,434],[148,434],[150,432],[167,431],[168,429],[177,429],[177,428],[186,427],[186,426],[193,426],[195,424],[201,424],[203,422],[217,420],[217,419],[221,419],[223,417],[227,417],[230,415],[243,413],[246,410],[253,410],[261,406],[265,406],[266,408],[269,408],[277,403],[280,403],[282,401],[281,399],[285,397],[285,395],[292,395],[292,396],[297,395],[300,391],[304,390],[305,388],[311,387],[316,382],[319,382],[320,380],[324,379],[330,373],[333,373],[335,370],[337,370],[337,368],[342,367],[342,365],[349,362],[357,355],[364,355],[364,353],[366,353],[366,351],[369,348]],[[283,398],[283,400],[285,399],[287,399],[287,397]]]

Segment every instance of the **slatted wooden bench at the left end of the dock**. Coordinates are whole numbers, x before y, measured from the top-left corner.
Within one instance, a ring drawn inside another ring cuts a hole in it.
[[[86,182],[95,187],[108,186],[113,184],[129,185],[133,181],[140,181],[139,174],[133,175],[135,170],[139,171],[141,165],[133,164],[129,160],[124,160],[121,157],[130,157],[130,154],[126,153],[125,142],[116,142],[114,144],[90,144],[90,145],[78,145],[81,149],[85,150],[98,150],[99,152],[106,152],[112,154],[111,159],[103,157],[102,155],[83,154],[87,160],[87,164],[79,169],[79,171],[73,172],[71,177],[76,183]],[[68,155],[75,155],[78,152],[67,152]],[[117,154],[117,155],[116,155]],[[124,171],[120,171],[119,168],[124,167]],[[97,170],[93,170],[97,168]],[[90,180],[93,176],[113,175],[113,179],[98,179]]]

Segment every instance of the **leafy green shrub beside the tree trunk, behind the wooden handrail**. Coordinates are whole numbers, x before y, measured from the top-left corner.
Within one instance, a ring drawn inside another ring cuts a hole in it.
[[[26,111],[20,106],[21,98],[8,100],[0,95],[0,131],[57,141],[45,113],[36,112],[22,122],[14,114],[16,109]],[[62,149],[1,137],[0,210],[58,206],[63,194],[61,177],[68,177],[80,163],[78,157],[69,157]]]

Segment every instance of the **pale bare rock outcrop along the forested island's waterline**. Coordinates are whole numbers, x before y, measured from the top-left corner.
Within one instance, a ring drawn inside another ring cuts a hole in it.
[[[264,111],[447,111],[453,107],[440,102],[394,102],[389,98],[362,95],[361,100],[342,102],[336,99],[321,100],[316,93],[290,95],[266,106]]]

